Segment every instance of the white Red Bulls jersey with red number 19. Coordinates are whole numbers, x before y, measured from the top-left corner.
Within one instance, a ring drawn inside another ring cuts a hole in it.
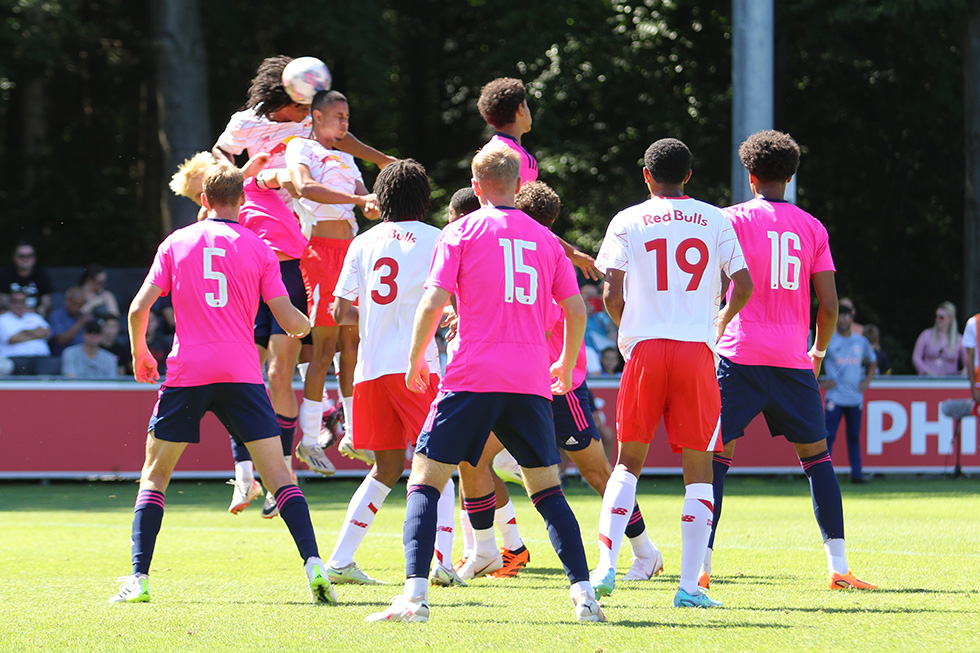
[[[596,267],[626,273],[619,325],[625,358],[654,338],[715,347],[721,272],[744,269],[742,248],[720,209],[689,197],[654,197],[609,223]]]

